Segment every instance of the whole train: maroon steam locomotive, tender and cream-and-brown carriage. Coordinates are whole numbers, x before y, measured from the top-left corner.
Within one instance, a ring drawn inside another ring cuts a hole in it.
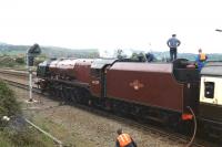
[[[37,76],[58,97],[175,126],[196,116],[206,134],[222,138],[222,63],[201,72],[190,63],[61,59],[40,63]]]

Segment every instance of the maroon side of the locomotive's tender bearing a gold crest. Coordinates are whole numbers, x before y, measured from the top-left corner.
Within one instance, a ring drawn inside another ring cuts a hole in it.
[[[164,64],[115,63],[107,73],[107,95],[183,112],[183,85],[173,78],[171,67]]]

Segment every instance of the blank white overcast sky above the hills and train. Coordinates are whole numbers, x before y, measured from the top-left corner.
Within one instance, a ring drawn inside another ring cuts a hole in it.
[[[0,0],[0,42],[222,53],[221,0]]]

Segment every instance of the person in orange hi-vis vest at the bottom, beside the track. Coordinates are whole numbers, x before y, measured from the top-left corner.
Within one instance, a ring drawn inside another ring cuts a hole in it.
[[[129,134],[122,133],[122,129],[118,129],[118,138],[115,143],[115,147],[137,147],[134,140],[130,137]]]

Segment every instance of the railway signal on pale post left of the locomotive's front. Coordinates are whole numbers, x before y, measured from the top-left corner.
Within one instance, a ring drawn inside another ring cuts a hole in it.
[[[39,44],[33,44],[30,49],[27,50],[27,69],[29,72],[29,101],[33,102],[32,98],[32,66],[34,63],[34,57],[41,53]]]

